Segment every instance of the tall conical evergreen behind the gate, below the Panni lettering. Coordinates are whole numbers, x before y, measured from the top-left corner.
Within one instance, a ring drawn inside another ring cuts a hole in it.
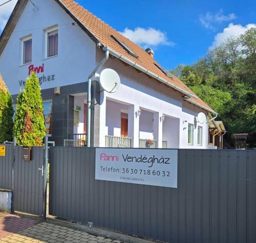
[[[17,145],[40,146],[46,135],[44,107],[40,85],[34,72],[27,79],[23,92],[17,97],[14,136]]]

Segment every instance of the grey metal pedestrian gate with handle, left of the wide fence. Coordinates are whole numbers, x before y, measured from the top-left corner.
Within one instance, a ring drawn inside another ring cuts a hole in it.
[[[32,161],[22,159],[23,147],[15,146],[13,210],[42,215],[44,212],[44,147],[32,148]]]

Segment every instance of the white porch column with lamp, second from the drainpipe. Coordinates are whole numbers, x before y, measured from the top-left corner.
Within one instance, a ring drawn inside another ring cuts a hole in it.
[[[133,148],[139,148],[139,123],[140,117],[137,111],[139,106],[131,105],[128,109],[128,137],[133,138]]]

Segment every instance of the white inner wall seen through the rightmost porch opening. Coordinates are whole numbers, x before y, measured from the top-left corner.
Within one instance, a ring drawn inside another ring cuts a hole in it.
[[[167,148],[177,149],[180,146],[180,119],[165,116],[163,121],[163,141]]]

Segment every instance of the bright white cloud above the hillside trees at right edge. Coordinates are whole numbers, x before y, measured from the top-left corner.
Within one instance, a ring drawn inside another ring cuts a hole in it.
[[[214,49],[229,37],[237,37],[241,34],[244,34],[248,29],[252,27],[256,28],[256,25],[254,23],[249,23],[246,26],[242,26],[242,25],[234,25],[233,23],[229,23],[228,27],[225,28],[223,32],[218,33],[214,37],[214,42],[212,42],[212,45],[209,47],[209,49],[210,50]]]

